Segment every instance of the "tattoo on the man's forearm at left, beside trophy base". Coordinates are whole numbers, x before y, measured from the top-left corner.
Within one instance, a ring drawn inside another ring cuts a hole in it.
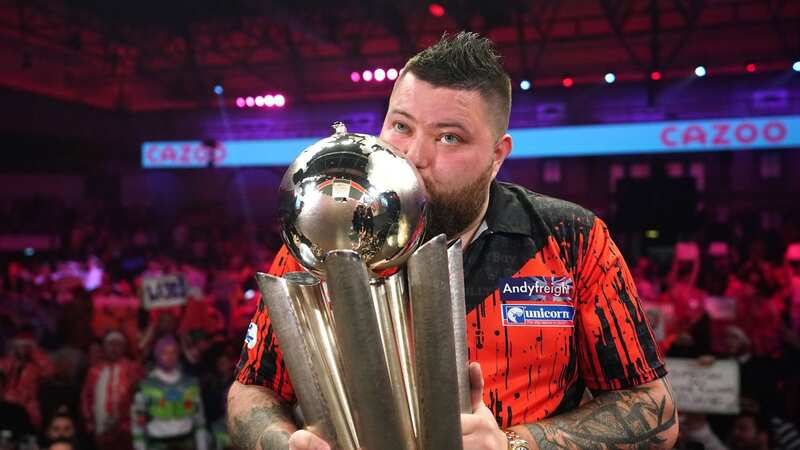
[[[275,428],[278,423],[289,420],[289,412],[280,403],[254,406],[246,418],[233,417],[231,437],[238,448],[256,450],[284,450],[289,446],[289,433]]]

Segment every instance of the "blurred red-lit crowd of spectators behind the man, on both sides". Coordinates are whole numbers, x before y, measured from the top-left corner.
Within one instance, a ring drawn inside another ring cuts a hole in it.
[[[253,275],[280,244],[275,227],[226,222],[214,208],[163,220],[38,202],[6,205],[0,224],[0,234],[60,238],[0,257],[0,450],[228,448],[226,389],[260,298]],[[712,234],[668,258],[629,257],[663,354],[740,366],[740,413],[682,414],[681,448],[800,450],[791,242]],[[184,304],[142,302],[148,279],[173,275]]]

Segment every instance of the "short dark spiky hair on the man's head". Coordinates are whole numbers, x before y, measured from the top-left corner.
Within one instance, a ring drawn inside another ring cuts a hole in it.
[[[437,87],[478,91],[495,116],[492,123],[498,135],[508,130],[511,114],[511,79],[503,69],[494,44],[477,33],[445,33],[439,42],[414,55],[403,74]]]

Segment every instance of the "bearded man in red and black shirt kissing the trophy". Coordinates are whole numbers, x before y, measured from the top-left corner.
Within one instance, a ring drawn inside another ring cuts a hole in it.
[[[459,33],[408,61],[380,133],[425,182],[428,235],[466,244],[464,449],[671,448],[678,424],[664,362],[607,227],[577,205],[495,181],[512,148],[510,110],[510,78],[491,42]],[[284,248],[271,273],[298,270]],[[512,305],[568,314],[518,323],[508,320]],[[251,329],[229,392],[233,441],[329,448],[291,419],[291,380],[266,310]],[[587,389],[594,399],[581,404]]]

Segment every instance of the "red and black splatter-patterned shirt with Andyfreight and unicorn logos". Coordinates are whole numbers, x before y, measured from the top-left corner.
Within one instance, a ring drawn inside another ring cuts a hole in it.
[[[501,426],[574,409],[586,388],[623,389],[666,375],[602,220],[572,203],[493,183],[485,223],[464,255],[467,346],[483,367],[484,401]],[[297,270],[281,249],[271,273]],[[237,380],[292,401],[265,307],[253,324]]]

